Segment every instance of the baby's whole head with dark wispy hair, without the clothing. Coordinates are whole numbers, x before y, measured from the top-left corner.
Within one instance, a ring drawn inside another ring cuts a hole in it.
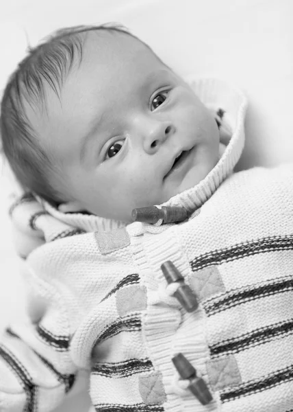
[[[168,201],[218,161],[214,117],[149,47],[116,29],[59,34],[21,63],[6,93],[5,155],[24,187],[62,211],[130,222],[132,209]]]

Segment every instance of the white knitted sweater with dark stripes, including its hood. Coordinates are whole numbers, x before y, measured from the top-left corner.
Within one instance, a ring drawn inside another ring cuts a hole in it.
[[[14,203],[29,319],[1,339],[1,412],[51,411],[81,369],[97,411],[292,411],[293,165],[232,174],[246,100],[214,80],[192,87],[231,139],[201,183],[165,203],[185,207],[184,222],[125,227],[29,195]],[[169,293],[168,260],[198,297],[194,312]],[[209,404],[182,385],[178,353]]]

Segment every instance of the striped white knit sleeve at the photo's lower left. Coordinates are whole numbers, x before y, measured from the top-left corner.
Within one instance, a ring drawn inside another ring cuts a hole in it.
[[[71,361],[64,310],[60,297],[53,290],[51,295],[55,298],[48,301],[30,293],[23,323],[9,325],[1,334],[1,412],[53,411],[75,386],[77,367]]]

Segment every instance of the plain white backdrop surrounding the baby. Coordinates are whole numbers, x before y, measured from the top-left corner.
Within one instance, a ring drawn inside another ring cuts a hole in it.
[[[240,168],[293,161],[292,0],[30,0],[0,5],[0,90],[9,73],[52,30],[119,21],[182,76],[218,77],[249,97]],[[23,301],[0,180],[0,328]],[[66,411],[73,411],[72,404]],[[77,411],[86,407],[77,406]]]

